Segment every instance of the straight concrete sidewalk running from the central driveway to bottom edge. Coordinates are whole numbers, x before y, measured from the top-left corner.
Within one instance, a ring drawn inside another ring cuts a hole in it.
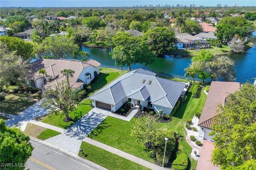
[[[130,160],[130,161],[132,161],[132,162],[136,162],[137,164],[140,164],[140,165],[145,166],[145,167],[147,167],[147,168],[150,168],[150,169],[152,169],[152,170],[166,170],[166,168],[163,168],[163,167],[161,167],[161,166],[158,166],[158,165],[156,165],[156,164],[153,164],[153,163],[148,162],[148,161],[146,161],[146,160],[144,160],[144,159],[138,158],[138,157],[136,157],[136,156],[133,156],[133,155],[131,155],[131,154],[128,154],[128,153],[126,153],[126,152],[123,152],[122,150],[118,150],[118,149],[116,149],[116,148],[113,148],[113,147],[111,147],[111,146],[108,146],[108,145],[106,145],[106,144],[103,144],[103,143],[101,143],[101,142],[98,142],[98,141],[93,140],[93,139],[91,139],[91,138],[85,138],[83,141],[84,141],[84,142],[87,142],[87,143],[89,143],[89,144],[92,144],[92,145],[94,145],[94,146],[97,146],[97,147],[99,147],[99,148],[102,148],[102,149],[104,149],[104,150],[107,150],[108,152],[111,152],[111,153],[116,154],[116,155],[118,155],[118,156],[121,156],[121,157],[123,157],[123,158],[126,158],[126,159],[128,159],[128,160]]]

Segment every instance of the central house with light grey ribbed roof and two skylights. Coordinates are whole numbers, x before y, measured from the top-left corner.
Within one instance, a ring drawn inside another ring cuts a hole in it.
[[[158,112],[170,114],[180,98],[186,83],[156,77],[147,67],[130,71],[89,97],[94,107],[116,112],[125,101],[134,107],[150,106]]]

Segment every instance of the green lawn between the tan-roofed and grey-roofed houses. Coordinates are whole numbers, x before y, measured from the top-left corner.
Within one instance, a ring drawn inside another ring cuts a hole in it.
[[[117,70],[117,69],[106,69],[106,68],[100,68],[100,75],[98,80],[95,83],[92,83],[92,92],[88,94],[89,96],[104,87],[104,85],[110,83],[117,77],[120,77],[127,71],[122,71],[122,70]],[[50,125],[60,127],[67,129],[71,125],[73,125],[76,121],[81,119],[88,111],[90,111],[92,108],[90,107],[90,99],[84,99],[78,107],[72,111],[69,114],[69,117],[72,118],[72,121],[69,123],[64,122],[65,116],[62,115],[61,113],[58,113],[57,115],[46,115],[44,117],[41,117],[41,121],[44,123],[48,123]]]

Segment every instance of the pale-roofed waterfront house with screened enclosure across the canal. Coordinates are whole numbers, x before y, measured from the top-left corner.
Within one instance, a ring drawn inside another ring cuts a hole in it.
[[[192,36],[190,34],[186,34],[186,33],[177,34],[176,38],[178,42],[175,43],[175,46],[178,47],[179,49],[196,48],[197,45],[204,46],[205,48],[210,47],[210,43],[208,41],[203,40],[202,38],[199,38],[197,36]],[[196,44],[197,41],[199,41],[200,43]]]

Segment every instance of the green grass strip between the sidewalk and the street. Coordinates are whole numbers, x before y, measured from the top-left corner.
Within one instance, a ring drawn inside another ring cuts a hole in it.
[[[79,156],[109,170],[149,170],[149,168],[86,142],[82,142],[81,148],[83,148],[84,154],[79,152]]]

